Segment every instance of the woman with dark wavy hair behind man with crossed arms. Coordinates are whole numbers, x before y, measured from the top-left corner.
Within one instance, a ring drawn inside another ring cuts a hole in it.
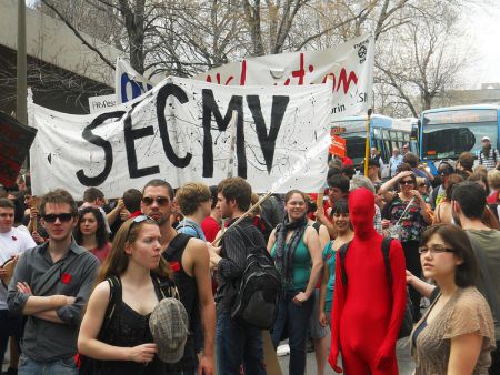
[[[78,224],[73,230],[74,241],[103,262],[111,250],[104,220],[97,207],[88,206],[79,211]]]

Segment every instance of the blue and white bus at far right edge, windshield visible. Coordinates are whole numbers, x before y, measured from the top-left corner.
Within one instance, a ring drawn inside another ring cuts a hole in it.
[[[422,112],[420,120],[420,155],[436,162],[457,160],[464,151],[478,154],[481,139],[490,138],[499,149],[500,105],[477,104],[438,108]]]

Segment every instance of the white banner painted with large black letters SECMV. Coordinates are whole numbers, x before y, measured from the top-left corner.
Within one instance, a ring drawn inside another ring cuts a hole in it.
[[[278,192],[316,192],[328,169],[330,108],[327,84],[244,88],[178,78],[98,114],[31,104],[30,125],[39,130],[30,153],[33,194],[63,188],[81,199],[97,186],[118,197],[157,178],[173,188],[189,181],[217,184],[228,173],[233,110],[234,175],[267,192],[297,170]]]

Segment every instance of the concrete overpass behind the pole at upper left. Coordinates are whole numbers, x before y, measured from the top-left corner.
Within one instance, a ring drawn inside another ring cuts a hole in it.
[[[16,108],[17,0],[0,1],[0,110]],[[28,84],[36,103],[67,113],[88,113],[88,97],[113,93],[114,70],[82,44],[61,21],[27,8]],[[114,62],[116,48],[82,33]]]

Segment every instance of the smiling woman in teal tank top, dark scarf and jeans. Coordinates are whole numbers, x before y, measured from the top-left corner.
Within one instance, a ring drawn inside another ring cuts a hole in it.
[[[314,306],[314,286],[321,273],[321,249],[317,231],[308,224],[306,195],[291,190],[284,196],[286,216],[271,233],[268,251],[281,274],[283,292],[271,338],[278,347],[288,328],[289,374],[306,371],[308,322]]]

